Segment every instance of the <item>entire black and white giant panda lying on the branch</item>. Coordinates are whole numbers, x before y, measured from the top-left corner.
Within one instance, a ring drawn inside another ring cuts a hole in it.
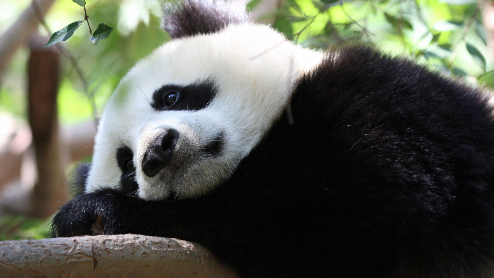
[[[57,236],[195,241],[242,278],[494,275],[481,89],[371,46],[304,49],[221,0],[164,17]]]

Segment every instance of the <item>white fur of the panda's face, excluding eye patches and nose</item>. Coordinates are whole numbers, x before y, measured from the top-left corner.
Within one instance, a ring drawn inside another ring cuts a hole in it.
[[[285,109],[296,80],[323,54],[288,42],[270,27],[231,25],[224,30],[172,40],[139,61],[110,98],[96,135],[86,192],[118,188],[116,149],[133,153],[138,195],[147,200],[197,197],[230,177]],[[163,85],[211,79],[217,94],[198,111],[156,111],[152,94]],[[172,162],[150,178],[141,170],[144,152],[166,129],[179,132]],[[201,149],[223,131],[220,154]]]

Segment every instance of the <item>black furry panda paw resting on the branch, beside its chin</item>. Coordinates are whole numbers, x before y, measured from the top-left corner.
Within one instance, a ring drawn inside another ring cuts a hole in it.
[[[105,229],[105,219],[114,218],[114,212],[118,211],[115,197],[117,195],[112,190],[101,190],[82,194],[70,200],[53,218],[52,235],[68,237],[112,234],[112,231]]]

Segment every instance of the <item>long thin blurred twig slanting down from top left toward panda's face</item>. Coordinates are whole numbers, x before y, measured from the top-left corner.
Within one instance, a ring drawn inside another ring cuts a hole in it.
[[[85,8],[85,6],[84,6],[84,8]],[[46,30],[46,32],[48,32],[48,34],[52,34],[48,24],[46,24],[46,21],[44,20],[44,17],[41,15],[40,7],[38,6],[38,3],[36,2],[36,0],[33,0],[33,9],[35,11],[36,16],[38,17],[38,20],[40,20],[41,25]],[[74,57],[74,55],[72,55],[70,50],[67,49],[67,47],[63,46],[62,44],[56,44],[55,46],[58,48],[58,50],[63,55],[65,55],[67,58],[69,58],[69,61],[72,65],[72,67],[76,70],[76,73],[79,76],[79,79],[81,79],[82,87],[84,88],[84,93],[87,96],[87,98],[89,99],[89,102],[91,103],[91,110],[92,110],[91,112],[93,115],[94,122],[97,124],[98,119],[97,119],[96,103],[94,101],[93,95],[89,93],[89,88],[88,88],[89,86],[88,86],[86,79],[84,78],[84,74],[82,73],[81,67],[79,67],[76,58]]]

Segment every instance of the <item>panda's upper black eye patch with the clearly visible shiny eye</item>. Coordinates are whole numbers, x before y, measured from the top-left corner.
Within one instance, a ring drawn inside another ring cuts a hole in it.
[[[211,102],[216,87],[210,79],[196,81],[191,85],[164,85],[153,93],[151,106],[158,110],[199,110]]]

